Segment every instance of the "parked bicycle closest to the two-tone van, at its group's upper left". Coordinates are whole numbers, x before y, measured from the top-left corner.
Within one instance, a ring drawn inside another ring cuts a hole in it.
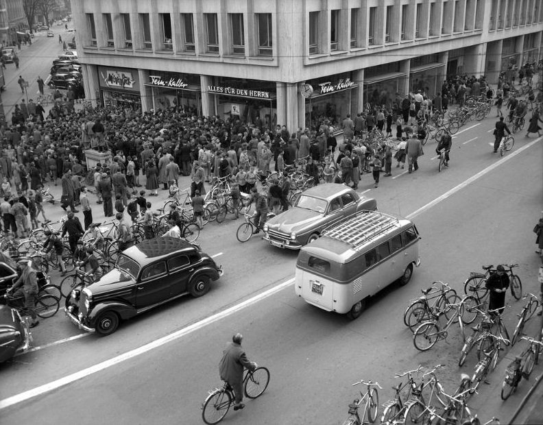
[[[435,284],[441,284],[441,288],[435,287]],[[432,290],[435,290],[432,292]],[[456,291],[451,289],[448,284],[436,280],[428,289],[421,289],[422,296],[417,300],[411,301],[404,313],[404,323],[411,332],[422,321],[427,321],[437,317],[439,313],[448,313],[447,304],[455,304],[460,298]],[[437,294],[437,295],[435,295]],[[450,299],[449,299],[450,298]],[[434,300],[431,304],[429,300]]]

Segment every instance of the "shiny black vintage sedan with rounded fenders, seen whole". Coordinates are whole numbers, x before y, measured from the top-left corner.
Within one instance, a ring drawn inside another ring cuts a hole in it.
[[[121,320],[188,293],[201,297],[210,280],[220,276],[221,267],[197,245],[171,237],[149,239],[123,251],[100,280],[74,289],[64,312],[81,329],[110,335]]]

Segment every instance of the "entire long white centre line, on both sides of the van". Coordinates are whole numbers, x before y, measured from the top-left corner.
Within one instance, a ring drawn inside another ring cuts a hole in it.
[[[454,195],[461,189],[468,186],[468,184],[474,182],[475,180],[481,178],[483,175],[489,173],[490,171],[494,170],[496,167],[499,167],[504,162],[510,160],[511,158],[514,158],[515,156],[522,153],[524,150],[528,149],[532,145],[535,145],[535,143],[540,142],[543,139],[542,137],[538,137],[535,140],[533,140],[531,143],[528,143],[527,145],[524,145],[520,149],[514,151],[512,154],[509,154],[508,156],[503,157],[502,159],[494,162],[494,164],[486,167],[485,169],[479,171],[479,173],[476,173],[475,175],[472,175],[472,177],[468,178],[465,182],[462,182],[461,184],[458,184],[457,186],[453,187],[453,189],[450,189],[450,191],[447,191],[443,195],[433,199],[433,201],[429,202],[428,204],[418,208],[418,210],[413,211],[413,213],[407,215],[405,218],[412,219],[413,217],[416,217],[420,215],[421,213],[424,213],[426,210],[429,210],[433,206],[436,206],[439,204],[439,202],[444,201],[451,195]],[[74,374],[70,374],[68,376],[64,376],[64,378],[60,378],[57,380],[53,380],[51,383],[47,383],[44,385],[40,385],[39,387],[29,389],[28,391],[24,391],[22,393],[16,394],[15,396],[5,398],[3,400],[0,400],[0,410],[6,409],[7,407],[13,406],[14,404],[18,404],[21,402],[24,402],[26,400],[29,400],[31,398],[34,398],[36,396],[40,396],[42,394],[48,393],[49,391],[53,391],[55,389],[58,389],[60,387],[64,387],[65,385],[68,385],[70,383],[75,382],[76,380],[80,380],[83,378],[86,378],[86,376],[90,376],[92,374],[95,374],[97,372],[101,372],[104,369],[107,369],[108,367],[117,365],[119,363],[122,363],[123,361],[127,361],[130,359],[133,359],[136,356],[139,356],[141,354],[144,354],[146,352],[149,352],[150,350],[154,350],[155,348],[158,348],[162,345],[165,345],[171,341],[175,341],[176,339],[180,339],[181,337],[184,337],[186,335],[191,334],[192,332],[195,332],[196,330],[200,330],[201,328],[204,328],[205,326],[208,326],[210,324],[215,323],[215,321],[219,321],[220,319],[224,319],[224,317],[227,317],[228,315],[232,315],[234,313],[237,313],[244,308],[247,308],[249,306],[252,306],[252,304],[256,304],[256,302],[259,302],[261,300],[264,300],[265,298],[268,298],[275,293],[278,293],[279,291],[282,291],[282,289],[285,289],[291,284],[293,284],[294,278],[290,278],[289,280],[286,280],[285,282],[282,282],[278,284],[276,287],[272,287],[270,289],[267,289],[267,291],[264,291],[263,293],[259,293],[258,295],[255,295],[252,298],[249,298],[248,300],[245,300],[237,305],[234,305],[230,308],[227,308],[224,311],[221,311],[219,313],[216,313],[213,316],[206,317],[206,319],[202,319],[200,321],[197,321],[195,324],[192,324],[190,326],[186,326],[186,328],[180,329],[176,332],[171,333],[170,335],[166,335],[165,337],[159,338],[156,341],[152,341],[150,343],[147,343],[145,345],[142,345],[139,348],[135,348],[134,350],[130,350],[128,352],[125,352],[123,354],[119,354],[119,356],[115,356],[112,359],[103,361],[101,363],[97,363],[96,365],[86,367],[85,369],[80,370],[79,372],[75,372]]]

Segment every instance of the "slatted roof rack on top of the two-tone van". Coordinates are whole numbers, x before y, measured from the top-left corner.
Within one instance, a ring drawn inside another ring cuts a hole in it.
[[[339,226],[324,230],[322,236],[348,243],[354,250],[359,250],[376,236],[398,227],[400,220],[397,217],[379,211],[363,210]]]

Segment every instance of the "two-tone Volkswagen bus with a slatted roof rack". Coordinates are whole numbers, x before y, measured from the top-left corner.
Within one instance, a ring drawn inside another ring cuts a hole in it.
[[[365,210],[325,230],[298,254],[295,293],[326,311],[361,315],[367,298],[407,284],[418,267],[420,236],[407,220]]]

